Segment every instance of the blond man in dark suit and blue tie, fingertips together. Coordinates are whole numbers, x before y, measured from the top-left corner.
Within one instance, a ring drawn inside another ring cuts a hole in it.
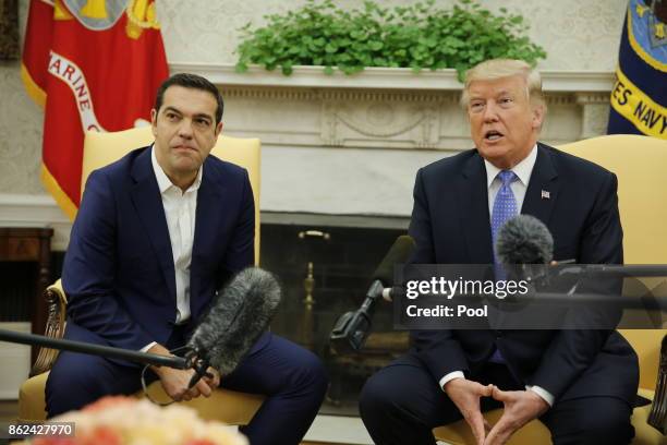
[[[621,264],[616,176],[537,142],[546,105],[537,71],[489,60],[461,104],[475,149],[422,168],[412,264],[493,264],[498,228],[518,213],[554,236],[554,258]],[[378,445],[433,445],[464,419],[477,444],[504,444],[539,419],[554,444],[628,444],[636,354],[614,329],[414,330],[408,354],[366,383],[361,414]],[[495,425],[482,412],[504,407]]]

